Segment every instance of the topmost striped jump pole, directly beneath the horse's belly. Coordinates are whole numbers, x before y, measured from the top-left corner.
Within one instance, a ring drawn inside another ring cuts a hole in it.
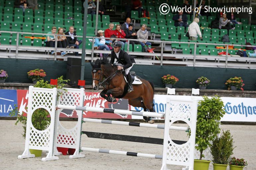
[[[95,107],[81,107],[81,106],[67,106],[58,104],[56,106],[58,109],[69,109],[69,110],[82,110],[90,112],[101,112],[101,113],[115,113],[123,115],[136,115],[136,116],[148,116],[148,117],[160,117],[163,118],[165,114],[156,113],[156,112],[139,112],[139,111],[130,111],[130,110],[121,110],[121,109],[107,109],[107,108],[95,108]]]

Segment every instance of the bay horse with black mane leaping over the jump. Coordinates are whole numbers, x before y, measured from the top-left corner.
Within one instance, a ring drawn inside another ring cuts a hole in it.
[[[100,85],[104,87],[100,92],[101,97],[108,102],[116,102],[116,98],[128,99],[128,103],[133,107],[142,107],[144,111],[155,112],[152,82],[138,77],[142,84],[133,85],[134,90],[127,93],[128,84],[125,82],[123,71],[117,70],[115,65],[109,64],[107,57],[97,59],[94,64],[91,63],[91,66],[92,88],[97,90]],[[104,81],[103,78],[105,78]],[[143,116],[143,119],[150,124],[155,123],[152,117]]]

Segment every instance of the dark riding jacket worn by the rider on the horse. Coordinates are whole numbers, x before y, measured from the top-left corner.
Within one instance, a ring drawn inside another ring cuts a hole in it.
[[[117,58],[114,50],[111,51],[111,59],[109,64],[113,64],[115,59],[117,59],[117,63],[121,63],[124,69],[127,69],[132,66],[132,63],[135,63],[134,58],[130,58],[130,56],[124,50],[120,49],[119,58]]]

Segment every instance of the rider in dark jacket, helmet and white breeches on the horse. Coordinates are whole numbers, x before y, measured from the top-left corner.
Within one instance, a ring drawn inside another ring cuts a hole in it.
[[[127,54],[127,52],[125,52],[124,50],[122,50],[122,43],[120,41],[114,41],[113,42],[113,47],[114,50],[112,50],[111,52],[111,60],[110,60],[110,64],[113,65],[115,58],[117,59],[117,70],[122,70],[124,69],[124,72],[127,76],[128,82],[129,82],[129,88],[128,88],[128,92],[133,91],[133,87],[132,87],[132,77],[130,74],[130,70],[132,68],[132,66],[135,63],[134,58],[130,58],[130,56]]]

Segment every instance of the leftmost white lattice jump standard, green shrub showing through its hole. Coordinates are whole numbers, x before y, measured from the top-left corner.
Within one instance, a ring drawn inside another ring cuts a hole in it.
[[[48,151],[48,155],[42,158],[42,161],[56,160],[59,157],[54,155],[54,129],[55,129],[55,108],[57,99],[57,88],[37,88],[29,86],[28,114],[25,151],[18,158],[35,157],[29,149],[38,149]],[[43,131],[34,128],[31,118],[35,110],[39,108],[46,109],[51,116],[51,123]]]

